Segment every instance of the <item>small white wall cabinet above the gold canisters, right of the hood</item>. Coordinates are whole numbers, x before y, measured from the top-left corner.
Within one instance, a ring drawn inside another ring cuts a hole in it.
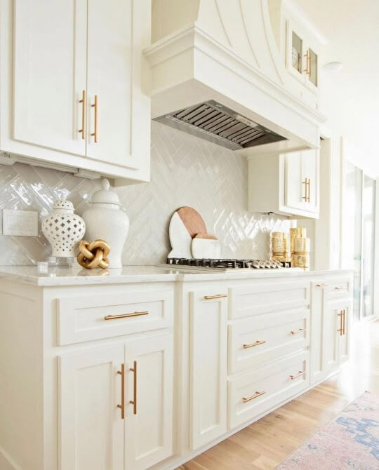
[[[319,217],[319,151],[248,159],[248,208],[296,218]]]

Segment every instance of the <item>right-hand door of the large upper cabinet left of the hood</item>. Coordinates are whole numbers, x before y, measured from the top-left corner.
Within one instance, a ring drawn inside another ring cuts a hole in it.
[[[149,161],[142,25],[149,25],[147,0],[88,2],[87,156],[128,168]]]

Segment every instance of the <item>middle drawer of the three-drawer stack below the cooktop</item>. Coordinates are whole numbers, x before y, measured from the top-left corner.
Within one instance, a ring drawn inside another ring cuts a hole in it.
[[[229,373],[258,367],[310,344],[310,310],[257,315],[229,325]]]

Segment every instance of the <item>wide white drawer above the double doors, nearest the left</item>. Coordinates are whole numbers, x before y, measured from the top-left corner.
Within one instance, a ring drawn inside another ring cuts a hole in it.
[[[98,340],[173,324],[173,290],[58,299],[58,344]]]

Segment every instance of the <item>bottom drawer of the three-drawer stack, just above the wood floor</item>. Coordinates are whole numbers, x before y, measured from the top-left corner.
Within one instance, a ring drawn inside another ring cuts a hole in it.
[[[228,381],[228,427],[258,418],[310,385],[309,354],[301,352]]]

